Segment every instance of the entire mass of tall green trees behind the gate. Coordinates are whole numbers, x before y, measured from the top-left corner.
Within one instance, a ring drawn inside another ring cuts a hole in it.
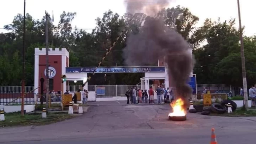
[[[69,66],[97,66],[121,31],[125,31],[101,66],[125,66],[122,50],[130,33],[136,34],[147,15],[126,13],[120,16],[107,11],[96,19],[96,27],[91,33],[72,30],[71,22],[76,12],[63,12],[58,25],[49,21],[49,46],[66,47],[70,52]],[[193,48],[196,59],[194,73],[197,83],[223,83],[242,85],[242,68],[239,31],[235,19],[220,22],[206,19],[203,26],[195,28],[199,18],[188,8],[177,6],[162,9],[156,16],[162,18],[169,28],[174,28]],[[34,20],[26,14],[26,85],[34,84],[34,48],[45,47],[45,17]],[[0,34],[0,85],[20,85],[22,72],[23,15],[17,14],[12,23],[4,26],[8,33]],[[256,79],[256,36],[244,37],[244,52],[248,84]],[[157,66],[157,61],[153,66]],[[108,74],[107,84],[136,84],[143,74]],[[99,84],[103,76],[98,74],[90,84]],[[105,83],[104,83],[105,84]]]

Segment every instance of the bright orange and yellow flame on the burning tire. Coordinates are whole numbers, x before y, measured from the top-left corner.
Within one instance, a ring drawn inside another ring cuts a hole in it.
[[[175,100],[175,102],[172,102],[171,106],[172,106],[173,112],[169,113],[169,116],[170,117],[173,117],[173,116],[178,116],[178,117],[179,116],[185,116],[186,115],[186,111],[183,109],[183,105],[184,105],[184,101],[181,98]]]

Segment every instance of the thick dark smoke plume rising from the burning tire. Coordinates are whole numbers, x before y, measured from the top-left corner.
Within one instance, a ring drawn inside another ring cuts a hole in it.
[[[164,58],[171,77],[170,87],[175,87],[176,96],[191,95],[187,84],[193,68],[193,57],[188,51],[189,44],[175,30],[165,26],[164,20],[154,18],[168,0],[126,0],[128,13],[143,12],[148,15],[139,33],[130,34],[123,50],[125,63],[129,66],[145,66]]]

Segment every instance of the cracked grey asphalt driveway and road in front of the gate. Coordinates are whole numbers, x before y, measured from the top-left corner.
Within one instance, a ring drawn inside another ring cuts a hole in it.
[[[256,117],[216,117],[188,113],[183,122],[169,121],[169,105],[91,103],[74,119],[36,127],[0,129],[6,144],[206,144],[211,128],[219,144],[255,143]]]

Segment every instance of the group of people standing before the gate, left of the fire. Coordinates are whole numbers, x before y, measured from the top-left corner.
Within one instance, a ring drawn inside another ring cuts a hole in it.
[[[127,90],[125,93],[127,97],[127,104],[129,104],[129,102],[131,102],[131,104],[155,103],[154,92],[156,92],[158,104],[172,102],[174,98],[173,90],[169,89],[169,87],[165,89],[164,87],[158,86],[158,88],[154,91],[153,87],[151,86],[148,92],[147,90],[136,90],[136,88],[134,87],[130,90]]]

